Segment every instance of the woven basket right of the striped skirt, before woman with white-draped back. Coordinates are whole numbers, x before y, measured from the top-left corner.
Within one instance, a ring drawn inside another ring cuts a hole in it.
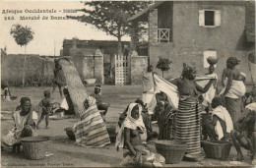
[[[202,146],[205,150],[206,157],[227,160],[231,148],[229,141],[202,141]]]

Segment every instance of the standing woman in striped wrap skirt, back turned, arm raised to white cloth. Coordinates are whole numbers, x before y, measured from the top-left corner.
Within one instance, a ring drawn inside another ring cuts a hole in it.
[[[187,143],[186,157],[197,158],[201,153],[200,112],[198,91],[205,93],[214,83],[211,80],[204,88],[195,83],[195,68],[186,66],[183,79],[178,80],[179,104],[176,115],[176,139]]]

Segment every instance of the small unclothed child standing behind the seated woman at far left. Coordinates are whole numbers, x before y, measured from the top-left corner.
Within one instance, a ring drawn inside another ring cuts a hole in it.
[[[44,94],[44,98],[42,98],[42,100],[38,104],[39,107],[42,108],[42,111],[41,111],[41,117],[37,123],[37,129],[39,129],[39,124],[43,120],[44,116],[45,116],[45,129],[49,129],[48,128],[48,124],[49,124],[48,120],[49,120],[49,114],[50,114],[50,111],[52,108],[51,99],[50,99],[50,91],[45,90],[43,94]]]

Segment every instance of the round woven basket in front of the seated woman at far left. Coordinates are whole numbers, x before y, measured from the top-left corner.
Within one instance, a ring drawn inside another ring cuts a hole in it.
[[[48,137],[27,137],[21,140],[25,156],[30,160],[39,160],[45,157]]]

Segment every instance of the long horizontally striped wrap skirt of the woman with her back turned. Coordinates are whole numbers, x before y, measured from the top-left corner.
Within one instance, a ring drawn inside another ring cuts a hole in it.
[[[197,100],[186,98],[179,100],[176,116],[176,139],[187,143],[188,154],[199,154],[200,144],[200,112]]]

